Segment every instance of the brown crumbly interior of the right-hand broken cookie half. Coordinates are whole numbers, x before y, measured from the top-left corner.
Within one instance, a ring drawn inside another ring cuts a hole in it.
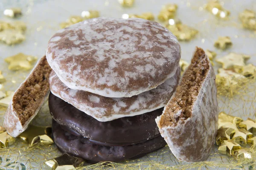
[[[175,96],[167,103],[160,118],[160,126],[176,126],[191,117],[193,104],[210,69],[209,59],[202,48],[196,48],[191,64],[186,69],[176,89]]]

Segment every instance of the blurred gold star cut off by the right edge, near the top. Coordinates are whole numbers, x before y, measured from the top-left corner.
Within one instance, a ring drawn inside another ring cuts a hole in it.
[[[255,12],[245,9],[239,14],[239,18],[244,28],[256,30],[256,14]]]

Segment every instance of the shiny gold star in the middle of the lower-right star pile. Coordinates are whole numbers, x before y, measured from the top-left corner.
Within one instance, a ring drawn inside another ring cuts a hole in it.
[[[244,128],[236,130],[235,134],[233,135],[232,139],[242,145],[242,146],[246,146],[247,141],[249,138],[253,137],[253,133],[248,132],[247,130],[245,130]]]

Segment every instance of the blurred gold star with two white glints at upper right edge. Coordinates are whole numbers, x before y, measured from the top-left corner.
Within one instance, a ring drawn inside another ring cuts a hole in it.
[[[227,19],[230,15],[230,11],[224,9],[218,0],[210,0],[209,3],[206,4],[205,8],[207,11],[221,19]]]

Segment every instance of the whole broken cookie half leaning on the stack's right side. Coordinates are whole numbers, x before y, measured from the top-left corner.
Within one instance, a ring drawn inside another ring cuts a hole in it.
[[[203,49],[196,48],[175,94],[156,122],[177,159],[207,159],[217,133],[218,102],[215,74]]]

